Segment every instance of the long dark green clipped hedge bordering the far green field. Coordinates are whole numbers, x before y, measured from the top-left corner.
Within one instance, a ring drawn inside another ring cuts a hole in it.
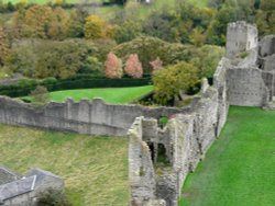
[[[141,79],[105,79],[96,77],[75,77],[65,80],[47,78],[44,80],[22,79],[16,84],[0,85],[0,95],[10,98],[25,96],[31,93],[37,85],[44,85],[48,91],[73,90],[73,89],[91,89],[91,88],[125,88],[151,84],[151,78]]]

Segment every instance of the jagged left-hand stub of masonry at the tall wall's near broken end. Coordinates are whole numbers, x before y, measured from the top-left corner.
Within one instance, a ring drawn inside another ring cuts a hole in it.
[[[146,142],[142,141],[142,121],[138,117],[128,133],[129,136],[129,181],[131,185],[131,205],[165,205],[156,198],[155,172],[152,154]]]

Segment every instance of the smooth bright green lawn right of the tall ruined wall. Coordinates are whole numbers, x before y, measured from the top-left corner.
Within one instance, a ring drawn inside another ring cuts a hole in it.
[[[182,206],[274,206],[275,111],[231,106],[183,196]]]

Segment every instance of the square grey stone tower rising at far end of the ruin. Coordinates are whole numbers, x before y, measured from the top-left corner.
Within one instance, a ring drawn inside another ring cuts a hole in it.
[[[238,54],[257,47],[257,28],[243,21],[230,23],[227,32],[227,54],[229,59]]]

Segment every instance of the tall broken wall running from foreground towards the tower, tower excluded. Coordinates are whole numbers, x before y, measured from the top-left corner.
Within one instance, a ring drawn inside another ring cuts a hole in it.
[[[193,101],[190,110],[174,115],[164,129],[153,118],[139,117],[132,125],[129,130],[132,205],[150,205],[152,201],[177,205],[186,175],[195,170],[226,123],[229,107],[226,64],[226,59],[220,61],[213,85],[204,85],[205,91]],[[165,148],[168,163],[156,171],[152,165],[157,163],[160,145]]]

